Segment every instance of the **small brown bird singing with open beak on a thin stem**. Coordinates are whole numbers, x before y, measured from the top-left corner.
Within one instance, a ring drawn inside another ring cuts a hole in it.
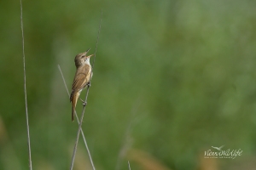
[[[88,85],[88,83],[90,83],[90,57],[94,54],[86,56],[89,50],[90,48],[87,49],[87,51],[85,51],[84,53],[77,54],[74,59],[77,71],[75,77],[73,78],[72,92],[70,94],[70,102],[72,103],[72,122],[79,95],[82,90]]]

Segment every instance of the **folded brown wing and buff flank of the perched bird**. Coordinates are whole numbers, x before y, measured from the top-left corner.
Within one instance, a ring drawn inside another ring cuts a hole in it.
[[[90,80],[90,65],[80,67],[73,79],[72,90],[80,90],[85,87]]]

